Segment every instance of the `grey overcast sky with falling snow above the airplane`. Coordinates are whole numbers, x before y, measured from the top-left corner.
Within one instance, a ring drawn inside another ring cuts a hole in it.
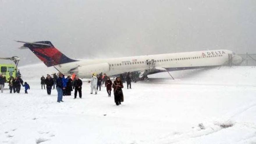
[[[256,1],[0,0],[0,57],[40,63],[13,40],[50,40],[74,59],[207,49],[256,53]]]

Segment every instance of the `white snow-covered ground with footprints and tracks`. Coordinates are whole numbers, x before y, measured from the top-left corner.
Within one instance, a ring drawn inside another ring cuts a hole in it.
[[[256,67],[171,72],[175,80],[154,74],[124,88],[120,106],[105,87],[90,95],[86,80],[82,99],[57,103],[56,90],[48,96],[39,81],[54,69],[37,64],[20,71],[31,90],[0,93],[0,143],[256,143]]]

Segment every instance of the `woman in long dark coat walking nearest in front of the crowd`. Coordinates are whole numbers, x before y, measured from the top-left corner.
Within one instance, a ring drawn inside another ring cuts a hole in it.
[[[122,88],[124,88],[123,83],[120,77],[117,77],[114,81],[112,88],[114,89],[114,96],[115,96],[115,104],[118,106],[121,102],[124,101],[124,95]]]

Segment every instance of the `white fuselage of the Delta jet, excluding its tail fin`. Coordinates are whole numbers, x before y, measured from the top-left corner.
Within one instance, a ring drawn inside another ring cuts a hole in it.
[[[147,65],[147,60],[155,61],[155,69],[165,68],[182,68],[182,67],[205,67],[205,66],[219,66],[227,65],[232,54],[230,50],[210,50],[210,51],[193,51],[183,53],[171,54],[157,54],[146,56],[131,56],[123,58],[109,58],[109,59],[95,59],[95,60],[81,60],[54,67],[64,74],[76,73],[81,78],[90,78],[93,73],[106,73],[107,75],[116,75],[124,72],[144,71],[151,69]],[[238,58],[236,63],[242,61]],[[71,72],[70,72],[71,70]]]

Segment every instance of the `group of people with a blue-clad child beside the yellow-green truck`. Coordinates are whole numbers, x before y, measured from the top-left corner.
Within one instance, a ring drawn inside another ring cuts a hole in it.
[[[4,88],[4,83],[7,82],[10,93],[19,93],[21,86],[25,88],[25,93],[28,93],[28,90],[30,89],[30,86],[27,82],[23,82],[22,78],[20,75],[17,77],[10,77],[9,81],[6,81],[6,77],[3,77],[2,74],[0,74],[0,89],[1,93],[3,93],[3,88]]]

